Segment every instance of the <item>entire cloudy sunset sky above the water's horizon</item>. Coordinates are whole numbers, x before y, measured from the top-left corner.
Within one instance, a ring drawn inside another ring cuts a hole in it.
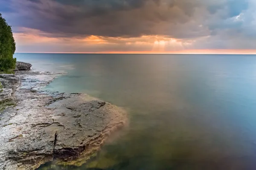
[[[16,52],[256,54],[256,0],[0,0]]]

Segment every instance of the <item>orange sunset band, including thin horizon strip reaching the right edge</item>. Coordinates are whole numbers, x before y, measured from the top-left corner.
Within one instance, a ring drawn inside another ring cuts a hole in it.
[[[160,35],[141,37],[54,37],[36,29],[20,28],[14,33],[16,52],[111,53],[111,54],[256,54],[245,49],[192,49],[197,40],[174,39]],[[56,36],[56,35],[55,35]]]

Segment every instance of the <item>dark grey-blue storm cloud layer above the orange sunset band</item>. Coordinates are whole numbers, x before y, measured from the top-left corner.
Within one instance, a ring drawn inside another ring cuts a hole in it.
[[[44,37],[163,35],[195,48],[256,48],[255,0],[0,0],[0,12],[15,32]]]

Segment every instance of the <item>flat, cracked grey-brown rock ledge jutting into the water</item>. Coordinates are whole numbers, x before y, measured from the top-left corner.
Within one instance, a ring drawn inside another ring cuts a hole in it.
[[[108,102],[41,91],[60,73],[20,65],[15,75],[0,74],[0,170],[35,170],[52,160],[82,164],[126,124],[125,111]]]

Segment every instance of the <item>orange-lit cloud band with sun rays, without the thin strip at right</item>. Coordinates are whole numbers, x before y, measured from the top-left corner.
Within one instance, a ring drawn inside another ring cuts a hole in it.
[[[31,28],[20,28],[14,33],[17,52],[113,52],[113,51],[154,51],[182,50],[191,45],[191,41],[164,36],[141,37],[53,37],[51,34]]]

